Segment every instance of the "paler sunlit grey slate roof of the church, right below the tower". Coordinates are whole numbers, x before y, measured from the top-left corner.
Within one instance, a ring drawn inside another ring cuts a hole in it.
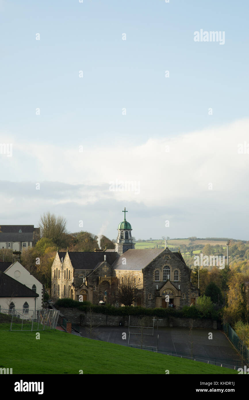
[[[114,270],[132,270],[141,271],[145,268],[151,261],[159,256],[161,252],[165,249],[129,249],[126,250],[112,265]],[[122,264],[123,258],[126,258],[126,265]],[[107,257],[106,257],[107,259]]]

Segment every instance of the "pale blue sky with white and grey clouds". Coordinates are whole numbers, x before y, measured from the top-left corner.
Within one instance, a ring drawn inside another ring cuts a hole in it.
[[[248,12],[0,0],[0,225],[249,240]]]

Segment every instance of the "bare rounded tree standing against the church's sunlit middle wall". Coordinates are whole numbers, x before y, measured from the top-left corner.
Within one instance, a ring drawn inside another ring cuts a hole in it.
[[[131,306],[141,296],[139,290],[141,290],[141,285],[137,283],[133,274],[127,272],[120,275],[117,295],[119,302],[125,306]]]

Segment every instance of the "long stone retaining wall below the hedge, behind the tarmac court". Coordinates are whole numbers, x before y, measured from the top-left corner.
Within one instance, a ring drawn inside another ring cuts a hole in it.
[[[74,324],[80,326],[89,325],[91,315],[90,313],[85,313],[84,311],[78,310],[77,308],[66,308],[57,307],[65,317]],[[130,325],[137,326],[139,324],[139,318],[137,316],[130,316]],[[165,326],[169,328],[189,328],[189,320],[191,318],[177,318],[177,317],[155,317],[155,319],[161,319],[158,321],[158,326]],[[145,316],[145,326],[153,326],[153,316]],[[129,316],[117,316],[117,315],[106,315],[92,313],[92,324],[94,326],[119,326],[120,321],[122,321],[122,326],[127,326],[129,324]],[[156,323],[155,325],[156,326]],[[202,329],[217,329],[217,321],[211,319],[193,319],[193,328]]]

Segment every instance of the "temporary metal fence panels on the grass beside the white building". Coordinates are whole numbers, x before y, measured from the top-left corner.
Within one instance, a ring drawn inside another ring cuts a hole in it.
[[[38,308],[2,309],[10,315],[10,331],[33,331],[56,329],[60,311]]]

